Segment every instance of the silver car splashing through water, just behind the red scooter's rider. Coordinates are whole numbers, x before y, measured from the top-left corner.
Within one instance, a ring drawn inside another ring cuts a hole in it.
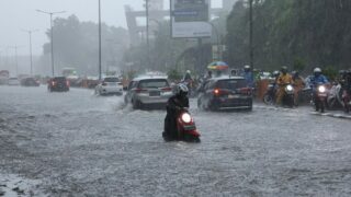
[[[136,78],[131,81],[124,102],[132,104],[134,109],[146,107],[165,108],[168,99],[172,95],[173,92],[167,78]]]

